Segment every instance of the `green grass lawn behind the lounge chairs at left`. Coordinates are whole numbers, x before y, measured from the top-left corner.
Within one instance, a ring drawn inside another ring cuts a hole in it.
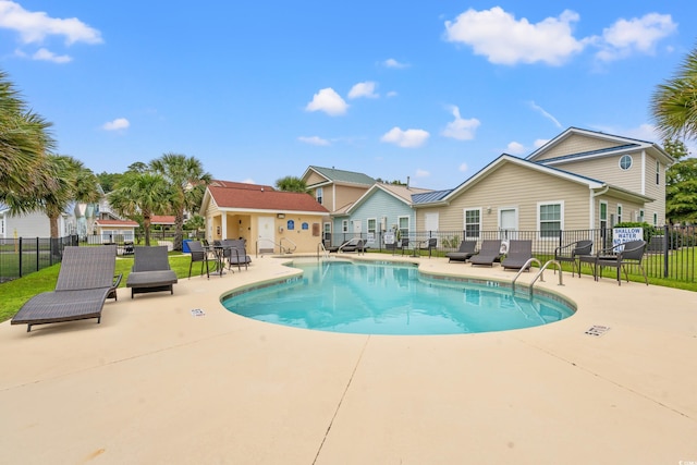
[[[170,254],[170,267],[172,267],[178,278],[188,277],[188,265],[191,261],[191,256],[188,254]],[[126,279],[131,272],[131,267],[133,267],[133,256],[123,258],[119,257],[117,260],[115,273],[123,273],[120,287],[124,287],[126,285]],[[0,298],[0,322],[12,318],[20,310],[22,305],[36,294],[46,291],[53,291],[56,289],[59,270],[60,265],[53,265],[52,267],[44,268],[40,271],[36,271],[14,281],[0,284],[0,292],[2,293],[2,298]],[[192,268],[192,276],[198,274],[200,274],[200,266],[194,266]]]

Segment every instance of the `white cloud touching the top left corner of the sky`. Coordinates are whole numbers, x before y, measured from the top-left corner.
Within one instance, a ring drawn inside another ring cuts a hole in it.
[[[0,0],[0,28],[20,33],[24,44],[40,44],[47,36],[63,36],[65,45],[101,44],[101,33],[76,17],[50,17],[46,12],[30,12],[19,3]]]

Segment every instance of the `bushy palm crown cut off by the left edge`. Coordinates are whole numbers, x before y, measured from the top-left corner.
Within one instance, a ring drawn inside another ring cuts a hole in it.
[[[56,145],[50,126],[27,109],[7,73],[0,71],[0,201],[13,212],[37,209],[35,191],[53,187],[46,159]]]

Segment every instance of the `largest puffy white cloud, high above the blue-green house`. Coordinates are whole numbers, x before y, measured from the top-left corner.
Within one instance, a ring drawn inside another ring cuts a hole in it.
[[[558,17],[531,24],[525,17],[516,20],[500,7],[469,9],[455,21],[445,22],[445,39],[470,46],[491,63],[559,65],[585,47],[585,40],[577,40],[572,34],[572,25],[578,19],[577,13],[565,10]]]

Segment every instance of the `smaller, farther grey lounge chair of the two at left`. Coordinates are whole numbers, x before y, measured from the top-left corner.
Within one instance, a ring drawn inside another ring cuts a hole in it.
[[[176,273],[170,268],[166,245],[134,247],[133,267],[126,279],[131,298],[146,292],[170,291],[174,294]]]

